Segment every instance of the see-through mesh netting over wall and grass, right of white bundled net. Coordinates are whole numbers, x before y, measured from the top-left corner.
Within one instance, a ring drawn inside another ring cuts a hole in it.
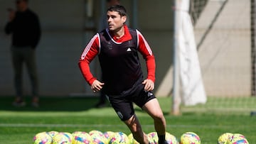
[[[191,0],[189,13],[208,100],[181,105],[181,111],[256,113],[255,5],[256,0]]]

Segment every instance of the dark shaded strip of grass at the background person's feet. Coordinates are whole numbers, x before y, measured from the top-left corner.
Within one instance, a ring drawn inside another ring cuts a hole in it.
[[[12,106],[14,97],[0,96],[0,111],[86,111],[95,108],[99,97],[42,96],[40,106],[31,106],[31,97],[26,97],[26,106]]]

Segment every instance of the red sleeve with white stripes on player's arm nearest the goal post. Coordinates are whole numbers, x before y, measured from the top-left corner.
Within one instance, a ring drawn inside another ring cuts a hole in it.
[[[142,33],[137,31],[137,35],[138,35],[139,52],[142,53],[144,60],[146,60],[146,68],[147,68],[147,78],[146,79],[151,79],[153,82],[155,82],[156,62],[155,62],[153,52],[152,52],[149,44],[146,42]]]

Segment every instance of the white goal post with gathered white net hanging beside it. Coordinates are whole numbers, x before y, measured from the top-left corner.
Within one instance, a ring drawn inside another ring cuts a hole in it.
[[[181,113],[181,102],[186,106],[206,103],[189,8],[190,1],[174,2],[174,115]]]

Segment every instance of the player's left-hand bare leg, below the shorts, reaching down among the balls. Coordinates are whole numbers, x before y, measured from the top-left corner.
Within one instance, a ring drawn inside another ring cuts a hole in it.
[[[142,131],[142,126],[135,114],[129,118],[129,120],[124,121],[124,123],[129,127],[134,139],[137,140],[137,142],[144,144],[149,143],[147,135]]]

